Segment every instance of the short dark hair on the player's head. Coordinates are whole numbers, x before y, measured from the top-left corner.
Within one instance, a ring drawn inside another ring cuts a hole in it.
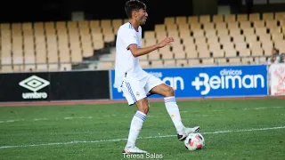
[[[132,18],[132,12],[138,12],[140,9],[146,10],[146,5],[138,0],[129,0],[125,4],[125,12],[127,17]]]

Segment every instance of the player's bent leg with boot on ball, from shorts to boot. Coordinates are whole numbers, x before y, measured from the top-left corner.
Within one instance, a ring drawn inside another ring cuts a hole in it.
[[[149,90],[152,94],[159,94],[164,97],[167,113],[171,117],[172,122],[175,124],[175,129],[179,140],[184,140],[191,132],[199,132],[199,126],[193,128],[184,127],[179,108],[176,104],[175,91],[171,86],[162,83],[162,81],[155,76],[150,77],[146,86],[148,87],[147,90]]]

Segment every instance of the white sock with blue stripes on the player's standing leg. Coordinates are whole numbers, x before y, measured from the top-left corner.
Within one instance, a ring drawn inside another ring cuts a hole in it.
[[[135,140],[137,139],[137,136],[142,130],[142,124],[145,117],[146,115],[139,110],[136,111],[136,113],[134,114],[133,120],[131,122],[130,131],[128,133],[126,147],[135,146]]]

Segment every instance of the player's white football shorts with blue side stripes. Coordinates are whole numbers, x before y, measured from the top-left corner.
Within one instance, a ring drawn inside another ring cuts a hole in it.
[[[150,95],[150,91],[155,86],[163,84],[156,76],[148,75],[142,79],[135,77],[126,77],[121,85],[121,89],[128,102],[128,105],[134,105],[138,100],[142,100]]]

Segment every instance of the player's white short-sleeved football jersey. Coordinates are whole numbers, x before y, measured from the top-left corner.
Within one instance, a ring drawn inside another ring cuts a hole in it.
[[[120,28],[118,28],[117,40],[116,40],[116,64],[115,64],[115,87],[119,87],[123,78],[135,77],[142,79],[147,76],[147,73],[142,70],[139,58],[134,57],[130,50],[127,48],[137,44],[138,48],[142,47],[142,28],[139,27],[135,30],[130,22],[126,22]]]

